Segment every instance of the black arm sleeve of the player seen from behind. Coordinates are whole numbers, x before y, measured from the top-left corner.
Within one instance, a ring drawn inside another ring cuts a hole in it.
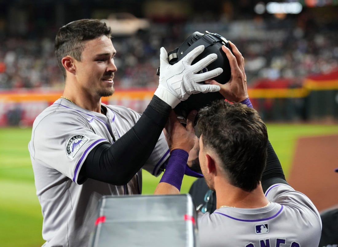
[[[268,157],[266,161],[266,167],[262,175],[262,187],[264,193],[266,190],[274,184],[288,184],[285,180],[285,175],[273,147],[268,141]]]

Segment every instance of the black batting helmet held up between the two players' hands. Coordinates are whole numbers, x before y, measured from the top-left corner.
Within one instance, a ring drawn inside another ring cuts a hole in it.
[[[217,59],[209,64],[206,68],[203,68],[199,73],[211,71],[215,68],[221,67],[223,68],[223,73],[213,79],[221,84],[228,82],[231,77],[231,68],[229,60],[222,50],[222,46],[225,45],[230,50],[231,48],[226,38],[217,33],[210,33],[208,31],[206,31],[205,34],[194,32],[179,47],[168,53],[169,63],[174,64],[178,62],[186,54],[200,45],[204,45],[204,51],[194,59],[192,64],[198,62],[200,59],[211,53],[215,53],[217,55]],[[224,97],[219,92],[192,94],[186,101],[181,101],[174,108],[174,111],[180,122],[185,125],[190,111],[199,110],[200,108],[209,105],[212,101],[220,99],[224,100]],[[195,118],[195,124],[196,121],[197,118]]]

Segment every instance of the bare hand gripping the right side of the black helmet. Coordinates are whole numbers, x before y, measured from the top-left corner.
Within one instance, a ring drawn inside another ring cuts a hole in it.
[[[229,44],[232,52],[226,46],[222,46],[222,50],[229,59],[231,67],[230,80],[225,84],[220,84],[215,80],[207,80],[206,84],[220,86],[221,90],[219,92],[228,101],[241,102],[248,98],[244,58],[232,42],[229,41]]]

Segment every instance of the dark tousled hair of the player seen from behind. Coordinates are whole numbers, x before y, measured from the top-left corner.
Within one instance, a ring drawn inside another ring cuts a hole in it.
[[[255,109],[215,101],[199,110],[195,131],[202,135],[203,147],[218,154],[232,185],[245,191],[257,187],[266,165],[268,134]]]

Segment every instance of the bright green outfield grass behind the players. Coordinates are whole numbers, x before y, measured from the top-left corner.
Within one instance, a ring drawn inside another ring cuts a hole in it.
[[[267,124],[269,139],[288,176],[296,139],[301,136],[338,134],[338,125]],[[36,247],[41,237],[42,215],[35,195],[27,145],[31,129],[0,129],[0,246]],[[143,193],[152,194],[160,177],[143,172]],[[195,179],[185,177],[181,192]]]

